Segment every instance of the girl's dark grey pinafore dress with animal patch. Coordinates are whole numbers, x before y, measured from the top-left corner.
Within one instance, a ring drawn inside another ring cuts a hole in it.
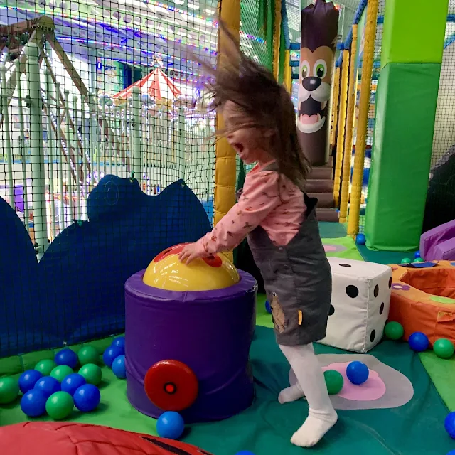
[[[264,171],[275,170],[272,166]],[[277,343],[284,346],[299,346],[324,338],[331,304],[331,268],[316,220],[318,200],[305,193],[304,200],[304,221],[287,245],[274,245],[260,226],[247,237],[264,279]]]

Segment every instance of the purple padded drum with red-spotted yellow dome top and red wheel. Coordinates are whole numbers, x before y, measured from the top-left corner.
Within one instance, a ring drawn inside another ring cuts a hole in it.
[[[223,255],[178,260],[183,245],[157,255],[125,284],[127,396],[158,418],[226,419],[252,403],[249,352],[257,284]]]

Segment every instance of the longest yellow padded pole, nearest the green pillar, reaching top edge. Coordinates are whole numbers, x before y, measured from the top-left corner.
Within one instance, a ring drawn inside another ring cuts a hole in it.
[[[350,193],[348,235],[358,233],[360,198],[362,196],[363,163],[367,139],[368,111],[370,110],[371,74],[375,53],[376,21],[378,20],[378,0],[369,0],[365,21],[365,47],[363,49],[362,82],[358,107],[357,142],[355,144],[353,183]]]

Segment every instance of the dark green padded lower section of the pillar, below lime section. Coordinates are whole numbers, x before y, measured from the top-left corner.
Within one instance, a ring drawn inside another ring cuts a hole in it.
[[[380,73],[365,215],[368,247],[419,247],[440,70],[439,63],[389,63]]]

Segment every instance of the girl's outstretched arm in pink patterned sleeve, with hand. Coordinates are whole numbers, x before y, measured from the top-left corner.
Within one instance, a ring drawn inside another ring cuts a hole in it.
[[[247,176],[242,196],[211,232],[187,245],[180,259],[187,264],[196,257],[206,257],[232,250],[281,202],[278,173],[258,172]]]

